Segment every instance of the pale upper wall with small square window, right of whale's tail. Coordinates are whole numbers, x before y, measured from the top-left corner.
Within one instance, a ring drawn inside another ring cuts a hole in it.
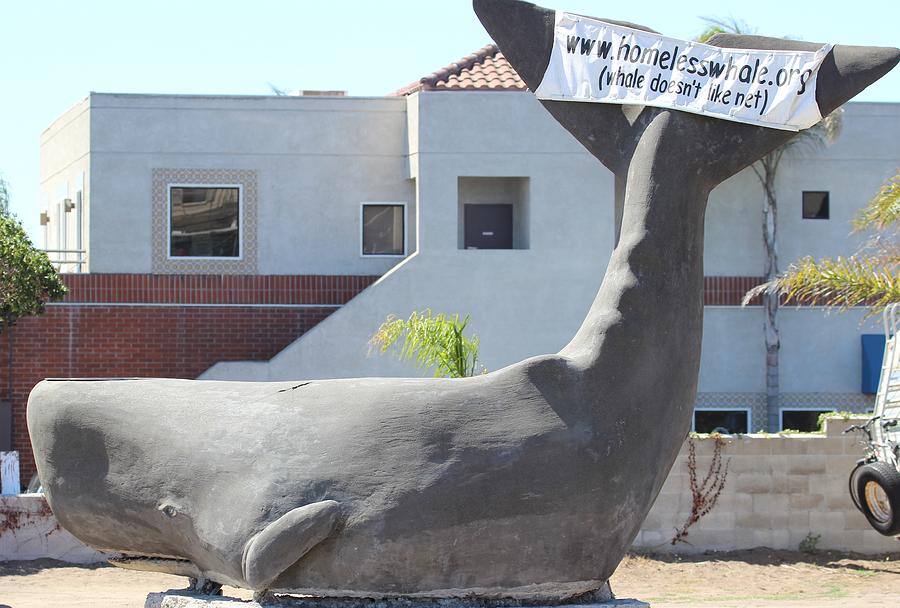
[[[824,149],[798,146],[776,181],[780,267],[803,256],[849,255],[861,242],[850,220],[900,166],[900,104],[849,103],[838,139]],[[830,193],[828,220],[802,217],[804,190]],[[707,275],[761,276],[763,191],[746,169],[712,191],[706,211]]]

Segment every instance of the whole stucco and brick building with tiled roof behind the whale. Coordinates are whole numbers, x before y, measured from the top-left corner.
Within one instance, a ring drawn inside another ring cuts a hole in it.
[[[848,104],[834,145],[781,167],[782,267],[852,253],[898,165],[900,104]],[[424,308],[470,315],[487,369],[555,352],[615,245],[614,189],[495,47],[378,98],[93,93],[41,139],[45,246],[73,290],[14,333],[14,360],[41,362],[13,366],[15,443],[41,374],[409,375],[367,342]],[[749,170],[710,200],[701,429],[767,426],[763,312],[739,306],[762,201]],[[863,314],[781,310],[786,426],[871,403]]]

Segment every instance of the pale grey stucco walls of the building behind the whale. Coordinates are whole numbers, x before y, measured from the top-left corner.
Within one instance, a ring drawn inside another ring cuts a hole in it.
[[[782,267],[805,254],[854,250],[859,237],[849,235],[849,219],[900,164],[898,125],[900,104],[848,104],[837,143],[785,160],[778,182]],[[259,274],[398,271],[272,362],[223,363],[209,378],[415,374],[407,365],[368,357],[366,343],[388,314],[425,307],[471,315],[488,369],[555,351],[580,325],[614,243],[611,174],[526,93],[93,94],[47,129],[41,154],[48,201],[74,195],[74,180],[85,173],[93,272],[154,271],[154,168],[257,176]],[[461,250],[466,188],[460,184],[502,178],[527,190],[520,197],[527,214],[520,217],[527,215],[528,225],[518,226],[517,239],[527,248]],[[831,219],[800,217],[803,190],[831,192]],[[400,258],[360,256],[362,202],[407,204],[415,259],[397,266]],[[763,273],[761,207],[749,170],[713,191],[707,275]],[[878,328],[877,320],[861,323],[862,315],[782,309],[785,405],[854,411],[870,405],[859,392],[859,334]],[[764,361],[761,309],[707,307],[702,407],[752,407],[752,430],[764,427]]]

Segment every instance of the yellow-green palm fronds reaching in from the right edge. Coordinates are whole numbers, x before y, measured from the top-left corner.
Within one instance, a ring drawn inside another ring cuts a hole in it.
[[[754,287],[744,296],[744,304],[765,294],[840,310],[868,306],[867,316],[881,312],[888,304],[900,302],[898,224],[900,173],[889,179],[854,219],[856,231],[875,230],[859,251],[848,258],[803,258],[785,273]]]

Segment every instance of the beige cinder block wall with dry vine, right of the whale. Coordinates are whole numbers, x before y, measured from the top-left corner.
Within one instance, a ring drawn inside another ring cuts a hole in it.
[[[858,421],[829,420],[824,435],[743,435],[725,438],[728,476],[716,506],[688,530],[687,543],[671,544],[691,512],[688,443],[682,447],[650,510],[636,548],[656,552],[771,547],[797,550],[808,534],[818,549],[860,553],[900,551],[900,541],[875,532],[850,499],[847,480],[863,456]],[[697,479],[709,470],[715,441],[693,440]],[[688,544],[689,543],[689,544]]]

